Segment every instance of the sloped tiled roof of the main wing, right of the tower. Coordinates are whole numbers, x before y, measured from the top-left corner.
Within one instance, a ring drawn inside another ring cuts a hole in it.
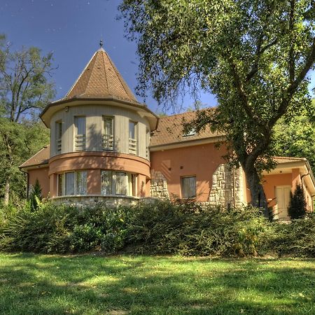
[[[183,137],[183,119],[188,122],[195,118],[195,115],[196,113],[191,111],[188,113],[161,117],[159,119],[158,129],[155,130],[153,136],[151,137],[150,146],[153,147],[167,144],[178,144],[181,142],[213,138],[221,135],[211,132],[210,128],[207,127],[203,132],[200,132],[200,134]]]

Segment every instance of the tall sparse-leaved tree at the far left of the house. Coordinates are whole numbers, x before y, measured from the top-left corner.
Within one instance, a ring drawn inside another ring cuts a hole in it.
[[[55,95],[53,83],[48,80],[52,73],[52,53],[41,55],[35,47],[12,52],[5,45],[5,36],[0,36],[0,113],[1,155],[3,158],[4,204],[8,204],[10,185],[16,175],[16,160],[26,145],[20,125],[23,119],[36,118]],[[20,137],[20,138],[19,138]],[[23,142],[24,141],[24,142]]]

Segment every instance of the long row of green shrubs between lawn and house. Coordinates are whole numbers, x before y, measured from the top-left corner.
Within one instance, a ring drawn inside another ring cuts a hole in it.
[[[315,218],[269,223],[257,209],[155,202],[109,208],[42,204],[0,211],[0,250],[315,256]]]

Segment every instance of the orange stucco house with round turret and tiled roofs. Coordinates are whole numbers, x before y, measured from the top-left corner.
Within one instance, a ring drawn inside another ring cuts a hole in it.
[[[183,134],[182,120],[194,112],[158,118],[140,104],[103,48],[63,99],[48,104],[41,120],[50,145],[23,163],[28,187],[36,179],[56,202],[113,204],[144,197],[195,198],[237,206],[250,201],[242,169],[228,167],[216,148],[223,135],[209,129]],[[314,176],[303,158],[276,158],[264,174],[270,207],[287,218],[290,191],[302,183],[313,211]]]

